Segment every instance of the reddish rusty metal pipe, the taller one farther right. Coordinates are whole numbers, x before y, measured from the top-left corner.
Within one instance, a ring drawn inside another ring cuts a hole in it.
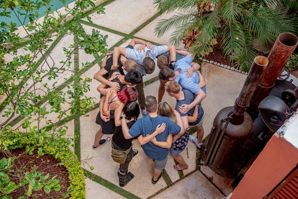
[[[263,74],[263,77],[259,81],[257,88],[252,95],[248,113],[254,120],[258,114],[258,106],[260,102],[268,96],[274,86],[278,75],[282,71],[283,67],[291,57],[293,51],[298,45],[297,36],[284,32],[278,35],[269,55],[268,66]]]

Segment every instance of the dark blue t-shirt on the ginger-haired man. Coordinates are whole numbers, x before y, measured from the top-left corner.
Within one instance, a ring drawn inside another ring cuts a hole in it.
[[[191,102],[193,102],[193,100],[195,99],[195,95],[190,90],[187,90],[187,89],[184,89],[184,88],[182,88],[182,92],[184,93],[184,99],[182,99],[182,100],[177,99],[176,110],[181,115],[181,117],[183,117],[183,116],[192,116],[193,111],[195,111],[195,107],[190,109],[187,113],[181,113],[179,111],[179,106],[181,106],[182,104],[190,104]],[[203,115],[204,115],[204,110],[200,105],[198,105],[198,118],[197,118],[197,121],[188,122],[188,125],[190,125],[190,126],[197,125],[201,121]]]

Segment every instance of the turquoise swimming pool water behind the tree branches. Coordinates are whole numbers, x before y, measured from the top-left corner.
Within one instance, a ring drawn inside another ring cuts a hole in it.
[[[75,0],[66,0],[66,4],[70,4],[70,3],[74,2],[74,1],[75,1]],[[52,0],[52,1],[51,1],[51,4],[53,4],[53,6],[52,6],[52,11],[55,11],[56,8],[57,8],[57,10],[58,10],[58,9],[60,9],[60,8],[62,8],[62,7],[64,6],[64,4],[63,4],[61,1],[58,1],[58,0]],[[8,10],[8,11],[11,11],[10,9],[7,9],[7,10]],[[46,7],[41,7],[41,8],[38,10],[38,13],[40,14],[40,17],[43,17],[43,16],[44,16],[43,11],[45,11],[45,10],[46,10]],[[3,12],[3,8],[0,8],[0,11]],[[23,13],[25,13],[25,11],[24,11]],[[0,16],[0,22],[1,22],[1,21],[4,21],[6,24],[9,24],[10,21],[12,21],[12,22],[14,22],[14,23],[17,24],[16,27],[21,26],[21,23],[20,23],[18,17],[15,16],[15,14],[14,14],[12,11],[11,11],[10,16],[11,16],[11,18]],[[24,21],[24,15],[20,15],[19,18],[20,18],[21,21]],[[28,22],[30,22],[30,20],[29,20],[29,18],[27,17],[26,20],[25,20],[25,24],[27,24]]]

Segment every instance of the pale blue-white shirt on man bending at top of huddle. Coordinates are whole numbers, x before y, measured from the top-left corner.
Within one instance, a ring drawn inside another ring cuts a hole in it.
[[[143,61],[144,58],[146,56],[146,53],[148,52],[148,55],[151,59],[155,60],[155,58],[164,53],[167,52],[167,46],[163,45],[163,46],[154,46],[154,50],[150,51],[149,48],[145,47],[145,51],[142,52],[138,52],[135,48],[134,49],[130,49],[130,48],[126,48],[126,52],[125,52],[125,57],[131,60],[134,60],[137,64],[137,70],[141,73],[146,75],[146,72],[144,70],[143,67]]]

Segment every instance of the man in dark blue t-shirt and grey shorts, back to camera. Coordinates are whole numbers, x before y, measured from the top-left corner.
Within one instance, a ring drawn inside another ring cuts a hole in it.
[[[155,97],[146,97],[145,109],[148,116],[139,118],[130,128],[128,132],[129,136],[125,137],[125,139],[137,137],[146,156],[154,160],[152,184],[155,185],[162,177],[162,170],[167,164],[167,156],[169,154],[169,148],[172,145],[173,134],[180,133],[181,127],[175,124],[168,117],[162,117],[157,114],[158,104]],[[153,134],[156,127],[162,125],[163,123],[166,125],[164,131],[155,136],[156,141],[164,143],[163,147],[156,146],[152,142],[142,141],[142,137]]]

